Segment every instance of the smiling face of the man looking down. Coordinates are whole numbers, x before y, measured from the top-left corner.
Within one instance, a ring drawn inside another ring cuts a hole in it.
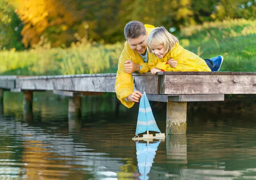
[[[140,55],[145,55],[147,50],[147,37],[146,35],[140,35],[138,38],[128,38],[127,42],[131,49],[138,52]]]

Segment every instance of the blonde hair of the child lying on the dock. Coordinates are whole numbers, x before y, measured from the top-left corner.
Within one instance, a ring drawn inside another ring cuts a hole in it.
[[[178,39],[169,33],[163,26],[153,29],[148,35],[147,46],[148,51],[152,53],[151,46],[163,45],[166,52],[172,51]]]

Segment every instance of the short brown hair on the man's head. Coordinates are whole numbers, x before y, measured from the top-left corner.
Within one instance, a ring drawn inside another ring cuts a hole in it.
[[[138,38],[140,35],[146,35],[146,28],[144,24],[137,20],[132,20],[125,25],[124,34],[125,39]]]

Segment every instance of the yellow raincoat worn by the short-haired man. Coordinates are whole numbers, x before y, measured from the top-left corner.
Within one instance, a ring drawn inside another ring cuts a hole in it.
[[[152,25],[145,24],[144,25],[148,34],[155,28]],[[149,52],[147,52],[149,55]],[[138,52],[131,50],[128,42],[125,42],[125,47],[120,55],[118,61],[118,70],[116,72],[116,84],[115,84],[115,91],[116,96],[119,101],[125,105],[126,107],[130,108],[134,105],[134,102],[126,102],[124,99],[134,92],[134,83],[132,75],[129,73],[125,73],[125,61],[129,60],[131,56],[131,61],[134,64],[140,64],[142,68],[140,69],[139,73],[148,72],[149,67],[148,63],[145,63]],[[148,56],[149,59],[149,56]]]

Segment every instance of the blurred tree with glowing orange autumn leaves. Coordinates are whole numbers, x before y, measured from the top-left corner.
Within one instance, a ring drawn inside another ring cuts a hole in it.
[[[44,33],[52,37],[55,45],[65,43],[68,36],[63,35],[81,15],[73,0],[12,0],[17,15],[23,22],[22,43],[28,47],[38,43]],[[74,6],[73,6],[74,5]],[[75,13],[74,13],[75,12]],[[54,39],[55,38],[55,39]]]

